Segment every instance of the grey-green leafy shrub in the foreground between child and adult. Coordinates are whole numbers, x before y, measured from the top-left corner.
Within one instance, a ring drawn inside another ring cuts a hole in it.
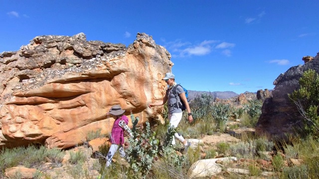
[[[134,172],[140,173],[142,178],[145,178],[152,168],[153,159],[157,157],[159,152],[159,140],[156,139],[156,133],[151,130],[149,122],[146,122],[146,130],[143,130],[143,125],[137,125],[139,117],[135,118],[131,114],[131,119],[134,137],[129,138],[131,145],[128,149],[127,159]]]

